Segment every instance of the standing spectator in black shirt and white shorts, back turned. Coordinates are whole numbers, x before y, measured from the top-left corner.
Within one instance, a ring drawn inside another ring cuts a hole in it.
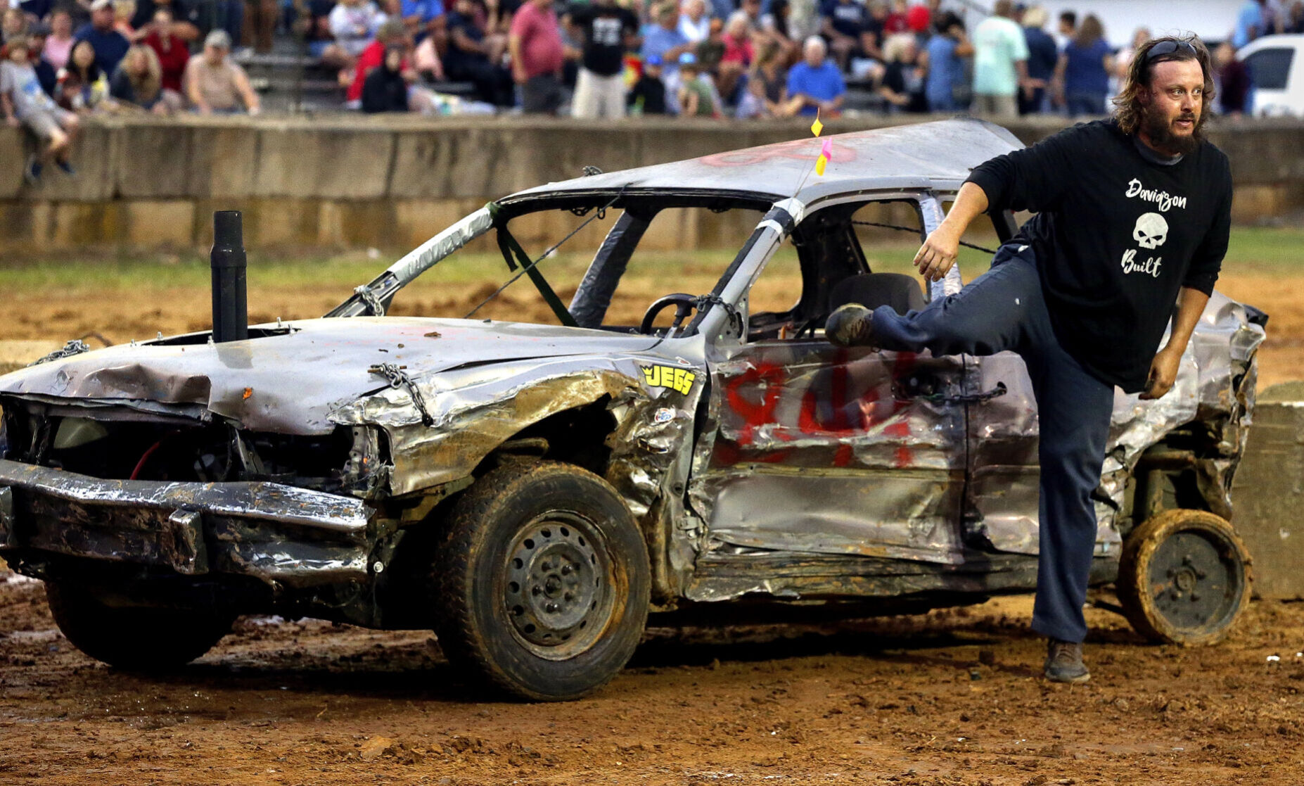
[[[575,118],[625,116],[625,51],[634,43],[639,20],[614,0],[571,5],[567,14],[582,42],[579,74],[571,115]]]

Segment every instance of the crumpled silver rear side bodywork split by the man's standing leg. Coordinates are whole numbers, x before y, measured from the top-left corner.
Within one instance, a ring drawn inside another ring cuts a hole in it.
[[[1121,538],[1116,517],[1141,454],[1192,422],[1213,427],[1219,440],[1218,456],[1196,464],[1201,492],[1215,513],[1231,514],[1228,480],[1248,437],[1257,376],[1254,351],[1262,339],[1262,328],[1247,321],[1243,306],[1214,292],[1183,354],[1172,390],[1155,401],[1115,392],[1101,478],[1101,491],[1111,501],[1097,501],[1097,556],[1118,554]],[[1013,353],[969,358],[969,363],[974,366],[974,392],[1000,381],[1008,393],[970,407],[974,450],[966,526],[1000,551],[1037,554],[1039,471],[1031,381]]]

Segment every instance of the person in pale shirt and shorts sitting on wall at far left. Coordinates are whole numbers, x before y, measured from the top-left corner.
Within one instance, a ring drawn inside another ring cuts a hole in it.
[[[76,174],[68,158],[77,133],[77,116],[59,108],[40,89],[40,81],[29,60],[25,37],[10,37],[4,44],[4,56],[0,63],[0,112],[9,125],[26,125],[38,140],[46,142],[44,150],[27,158],[23,178],[35,184],[42,168],[51,161],[65,174]]]

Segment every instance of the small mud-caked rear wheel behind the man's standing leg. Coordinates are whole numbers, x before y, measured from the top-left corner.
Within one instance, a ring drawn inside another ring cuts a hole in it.
[[[1164,511],[1123,544],[1116,590],[1137,633],[1161,644],[1222,641],[1249,603],[1251,560],[1231,525]]]

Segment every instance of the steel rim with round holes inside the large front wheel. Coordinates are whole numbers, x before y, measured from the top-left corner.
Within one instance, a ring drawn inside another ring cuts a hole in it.
[[[501,577],[512,637],[549,661],[589,649],[615,610],[606,537],[574,512],[550,511],[523,526],[507,547]]]

